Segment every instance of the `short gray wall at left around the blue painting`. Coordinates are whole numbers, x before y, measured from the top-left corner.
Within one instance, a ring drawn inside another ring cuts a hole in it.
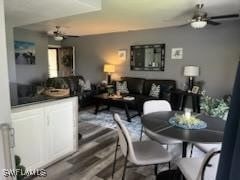
[[[16,65],[16,81],[20,84],[29,84],[48,77],[48,37],[43,33],[14,29],[14,40],[35,43],[36,64]]]

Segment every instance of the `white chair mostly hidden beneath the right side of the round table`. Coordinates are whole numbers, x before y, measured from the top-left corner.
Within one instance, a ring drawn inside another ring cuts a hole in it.
[[[192,143],[190,157],[192,157],[194,147],[198,148],[203,153],[207,153],[213,148],[217,149],[217,150],[221,150],[222,149],[222,143],[211,143],[211,144]]]

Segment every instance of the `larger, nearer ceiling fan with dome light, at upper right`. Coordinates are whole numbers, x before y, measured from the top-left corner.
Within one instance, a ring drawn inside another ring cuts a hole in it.
[[[220,25],[221,23],[216,22],[214,20],[239,17],[239,14],[226,14],[226,15],[209,17],[208,14],[203,11],[203,6],[204,6],[204,4],[197,4],[195,7],[194,15],[193,15],[192,19],[190,20],[190,25],[193,28],[196,28],[196,29],[204,28],[208,24],[217,26],[217,25]]]

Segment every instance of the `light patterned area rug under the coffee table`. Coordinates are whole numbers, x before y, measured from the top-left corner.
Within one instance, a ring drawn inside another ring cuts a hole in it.
[[[131,119],[132,122],[127,121],[126,113],[120,108],[111,108],[110,111],[101,111],[98,114],[94,114],[94,108],[82,110],[79,112],[79,122],[88,122],[94,125],[99,125],[106,128],[115,129],[116,123],[113,120],[113,113],[118,113],[123,120],[123,123],[129,130],[129,133],[133,141],[138,141],[140,139],[141,133],[141,118],[136,116]],[[135,111],[130,111],[130,114],[135,114]]]

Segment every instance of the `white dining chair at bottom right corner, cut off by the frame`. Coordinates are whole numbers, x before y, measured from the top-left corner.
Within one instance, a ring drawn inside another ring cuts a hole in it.
[[[203,158],[181,158],[176,165],[186,180],[215,180],[219,154],[213,148]]]

